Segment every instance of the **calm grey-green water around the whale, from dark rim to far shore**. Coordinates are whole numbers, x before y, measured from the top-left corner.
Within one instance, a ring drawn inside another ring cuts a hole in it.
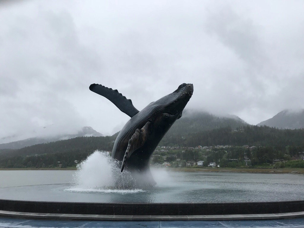
[[[154,170],[150,189],[74,184],[77,171],[0,171],[0,199],[65,202],[245,202],[304,199],[304,175]]]

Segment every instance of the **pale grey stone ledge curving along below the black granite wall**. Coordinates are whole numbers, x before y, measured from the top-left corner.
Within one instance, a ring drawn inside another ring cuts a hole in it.
[[[1,211],[0,216],[23,219],[56,220],[106,220],[106,221],[198,221],[198,220],[261,220],[304,217],[304,212],[244,215],[193,215],[193,216],[130,216],[130,215],[81,215]]]

